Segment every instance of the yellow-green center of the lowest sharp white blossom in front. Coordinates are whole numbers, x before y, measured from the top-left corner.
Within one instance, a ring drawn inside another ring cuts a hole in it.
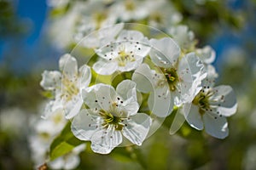
[[[122,118],[119,116],[114,116],[115,114],[113,112],[108,111],[100,111],[100,115],[103,118],[102,127],[108,128],[109,126],[113,126],[115,130],[122,130],[124,125],[121,123]]]

